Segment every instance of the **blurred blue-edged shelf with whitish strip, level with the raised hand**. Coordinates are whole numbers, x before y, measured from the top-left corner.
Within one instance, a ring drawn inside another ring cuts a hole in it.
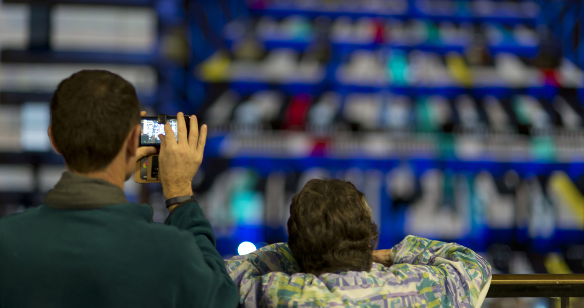
[[[572,135],[570,135],[572,134]],[[290,162],[337,162],[345,166],[354,160],[359,166],[379,167],[383,162],[420,159],[448,161],[475,168],[484,164],[519,164],[521,166],[584,166],[584,134],[550,134],[546,153],[526,135],[450,134],[442,132],[343,132],[318,135],[299,131],[217,132],[210,127],[206,157],[258,162],[258,167],[285,167]],[[583,144],[583,146],[575,146]],[[539,152],[538,152],[539,151]],[[262,163],[263,162],[263,163]],[[290,164],[290,166],[294,166]],[[580,168],[578,167],[578,168]],[[382,168],[383,169],[383,168]],[[536,170],[536,169],[526,169]],[[584,169],[580,172],[584,173]]]

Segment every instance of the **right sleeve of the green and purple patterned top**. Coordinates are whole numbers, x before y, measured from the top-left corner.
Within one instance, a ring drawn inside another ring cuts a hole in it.
[[[407,236],[392,248],[391,257],[394,265],[387,271],[415,289],[415,297],[442,307],[474,307],[491,279],[488,262],[456,243]]]

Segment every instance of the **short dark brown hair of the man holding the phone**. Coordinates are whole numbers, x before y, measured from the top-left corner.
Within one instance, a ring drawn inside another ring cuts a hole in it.
[[[74,171],[104,169],[139,123],[134,86],[112,72],[77,72],[59,84],[51,99],[53,139]]]

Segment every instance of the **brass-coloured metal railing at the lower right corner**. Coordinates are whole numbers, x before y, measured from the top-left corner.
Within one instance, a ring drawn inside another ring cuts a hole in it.
[[[584,274],[495,274],[486,297],[549,297],[551,308],[568,308],[570,297],[584,297]]]

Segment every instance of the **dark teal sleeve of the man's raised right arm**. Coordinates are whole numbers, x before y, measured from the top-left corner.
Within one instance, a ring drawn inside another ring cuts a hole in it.
[[[178,227],[192,234],[195,243],[189,247],[183,247],[182,254],[187,266],[183,270],[183,286],[186,303],[197,303],[201,307],[236,307],[238,302],[238,289],[231,277],[227,274],[223,258],[215,248],[215,235],[213,228],[203,215],[199,204],[195,201],[186,201],[173,209],[165,222],[166,225]],[[190,243],[193,243],[192,240]],[[201,260],[202,256],[202,260]],[[206,266],[203,266],[206,265]],[[201,281],[201,276],[205,277]],[[197,288],[199,294],[207,294],[206,298],[193,299],[192,290]],[[203,290],[201,290],[201,288]],[[180,297],[179,297],[180,300]],[[208,300],[204,304],[205,300]],[[189,305],[177,305],[189,306]]]

